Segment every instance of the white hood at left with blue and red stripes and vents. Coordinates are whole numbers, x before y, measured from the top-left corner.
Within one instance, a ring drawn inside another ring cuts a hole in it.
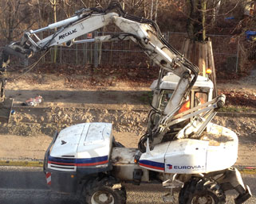
[[[112,149],[112,124],[82,123],[62,129],[48,157],[57,171],[95,171],[108,167]]]

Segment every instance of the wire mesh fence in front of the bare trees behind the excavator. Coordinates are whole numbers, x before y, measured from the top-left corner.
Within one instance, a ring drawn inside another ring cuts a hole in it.
[[[114,33],[93,32],[84,35],[83,39]],[[182,52],[182,46],[186,33],[163,33],[170,44]],[[212,40],[215,67],[217,71],[239,71],[241,59],[244,56],[244,46],[241,42],[245,37],[234,38],[232,36],[209,35]],[[3,47],[1,47],[3,48]],[[42,63],[53,63],[53,49],[41,60]],[[32,63],[37,57],[30,60]],[[131,40],[112,41],[104,43],[74,44],[71,47],[57,47],[57,64],[85,65],[93,64],[94,67],[118,66],[118,67],[150,67],[152,61],[144,54],[141,48]],[[15,60],[15,65],[26,65],[24,60]]]

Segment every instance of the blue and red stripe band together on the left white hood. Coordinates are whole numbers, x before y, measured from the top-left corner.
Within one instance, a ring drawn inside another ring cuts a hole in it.
[[[107,164],[108,156],[98,156],[87,159],[69,159],[69,158],[59,158],[59,157],[48,157],[48,164],[57,164],[63,166],[77,166],[77,167],[89,167],[96,166],[100,164]]]

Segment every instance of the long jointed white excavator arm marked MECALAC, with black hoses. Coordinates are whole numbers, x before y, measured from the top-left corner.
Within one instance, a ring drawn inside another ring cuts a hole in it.
[[[116,10],[116,13],[112,10]],[[90,39],[76,40],[76,38],[109,24],[116,25],[123,33],[96,37],[93,39],[94,41],[132,40],[139,44],[145,54],[160,66],[161,71],[172,72],[180,78],[174,94],[172,94],[163,110],[163,118],[152,131],[153,140],[154,137],[160,135],[160,132],[163,132],[163,129],[167,128],[167,121],[174,117],[187,98],[197,79],[198,67],[191,64],[171,44],[167,43],[154,21],[124,13],[119,2],[111,2],[106,10],[96,8],[79,10],[73,17],[42,29],[30,30],[24,33],[21,41],[4,48],[0,70],[6,70],[12,54],[29,58],[33,56],[33,53],[46,51],[53,46],[70,46],[93,41]],[[55,29],[57,31],[44,39],[37,36],[37,33]]]

